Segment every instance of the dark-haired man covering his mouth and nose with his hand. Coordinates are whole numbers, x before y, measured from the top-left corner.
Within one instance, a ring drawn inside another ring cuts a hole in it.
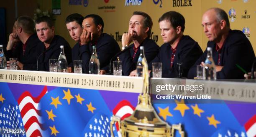
[[[110,35],[103,33],[104,22],[99,15],[91,14],[84,17],[83,32],[80,37],[80,54],[83,58],[83,70],[89,73],[89,62],[92,55],[92,46],[96,45],[97,56],[100,60],[101,74],[109,70],[109,63],[116,53],[120,52],[118,43]],[[86,61],[84,59],[87,59]]]

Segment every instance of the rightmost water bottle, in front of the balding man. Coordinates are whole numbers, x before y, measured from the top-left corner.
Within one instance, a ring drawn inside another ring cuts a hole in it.
[[[207,57],[203,69],[203,78],[206,80],[216,80],[216,66],[212,59],[211,47],[207,47]]]

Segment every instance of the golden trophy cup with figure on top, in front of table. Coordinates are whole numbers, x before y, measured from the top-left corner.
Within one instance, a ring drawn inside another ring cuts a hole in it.
[[[113,125],[118,122],[122,137],[174,137],[174,131],[178,130],[181,137],[184,137],[181,124],[169,126],[159,118],[151,105],[149,91],[148,64],[146,58],[142,59],[143,64],[143,92],[138,96],[138,105],[130,117],[120,122],[120,118],[113,116],[110,122],[111,137],[113,135]]]

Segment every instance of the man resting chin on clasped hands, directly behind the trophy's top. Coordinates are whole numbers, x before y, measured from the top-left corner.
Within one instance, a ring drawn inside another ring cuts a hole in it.
[[[119,56],[122,61],[123,75],[130,75],[133,70],[136,70],[140,55],[139,47],[144,47],[147,62],[151,62],[159,53],[159,46],[149,38],[152,26],[153,22],[148,14],[140,11],[133,12],[129,21],[128,32],[122,36],[123,49],[133,42],[129,46],[130,49]],[[133,74],[136,74],[136,71]]]

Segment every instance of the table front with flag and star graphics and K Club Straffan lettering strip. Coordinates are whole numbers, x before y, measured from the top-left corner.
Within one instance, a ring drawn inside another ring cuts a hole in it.
[[[169,125],[182,123],[187,135],[224,136],[228,131],[232,135],[254,135],[256,83],[188,79],[151,81],[152,95],[169,94],[168,91],[155,92],[156,85],[201,84],[204,86],[202,94],[207,93],[212,100],[225,101],[201,104],[184,104],[183,99],[172,100],[173,103],[155,104],[153,101],[159,117]],[[111,116],[124,118],[133,113],[142,92],[143,78],[0,70],[0,85],[0,112],[13,115],[10,120],[0,114],[0,128],[25,128],[27,137],[110,137]],[[12,107],[16,114],[10,111]],[[118,132],[115,129],[116,136]]]

